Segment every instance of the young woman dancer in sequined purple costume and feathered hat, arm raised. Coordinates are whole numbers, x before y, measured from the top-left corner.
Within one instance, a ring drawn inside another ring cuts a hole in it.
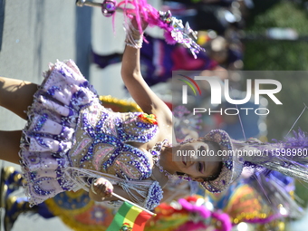
[[[27,120],[24,130],[0,132],[0,158],[21,163],[31,205],[84,188],[96,201],[115,201],[115,192],[151,210],[159,205],[162,188],[173,176],[220,192],[244,166],[265,166],[307,180],[304,158],[276,155],[276,149],[303,152],[307,138],[302,133],[297,140],[274,145],[231,140],[223,130],[183,144],[173,140],[172,113],[140,74],[145,27],[138,18],[127,25],[121,67],[123,82],[144,112],[116,113],[102,107],[72,61],[51,64],[40,86],[0,78],[0,105]],[[236,151],[261,148],[266,149],[261,157],[243,157]],[[174,157],[191,150],[215,155]],[[222,151],[236,155],[217,155]]]

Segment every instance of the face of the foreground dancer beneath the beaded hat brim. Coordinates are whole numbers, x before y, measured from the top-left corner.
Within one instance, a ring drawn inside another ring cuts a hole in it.
[[[217,156],[218,150],[219,146],[213,142],[192,141],[182,144],[175,153],[178,171],[198,182],[217,176],[222,167],[222,159]]]

